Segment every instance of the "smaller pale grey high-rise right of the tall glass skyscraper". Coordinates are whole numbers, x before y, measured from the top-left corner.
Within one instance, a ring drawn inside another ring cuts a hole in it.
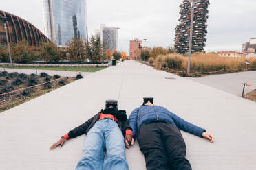
[[[105,52],[107,49],[118,50],[118,29],[118,27],[106,27],[105,24],[100,25],[100,42],[105,45]]]

